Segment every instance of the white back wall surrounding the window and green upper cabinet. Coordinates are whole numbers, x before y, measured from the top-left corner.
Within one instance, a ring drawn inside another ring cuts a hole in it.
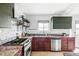
[[[38,20],[49,20],[49,24],[51,25],[51,17],[52,15],[26,15],[26,18],[30,21],[30,27],[28,28],[27,32],[28,33],[36,33],[36,34],[42,34],[43,32],[40,32],[37,30],[38,28]],[[74,20],[72,19],[72,33],[74,34],[75,32],[75,25],[74,25]],[[46,33],[57,33],[57,34],[61,34],[61,33],[67,33],[70,34],[70,29],[52,29],[50,26],[50,30],[47,31]]]

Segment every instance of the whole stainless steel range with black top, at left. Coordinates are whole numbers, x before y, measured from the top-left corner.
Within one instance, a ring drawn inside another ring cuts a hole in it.
[[[3,46],[23,46],[22,48],[22,54],[24,56],[30,56],[31,55],[31,39],[15,39],[10,42],[7,42],[3,44]]]

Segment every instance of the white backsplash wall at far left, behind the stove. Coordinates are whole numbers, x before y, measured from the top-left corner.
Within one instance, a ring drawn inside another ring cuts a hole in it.
[[[0,44],[14,40],[16,38],[16,29],[11,28],[0,28]]]

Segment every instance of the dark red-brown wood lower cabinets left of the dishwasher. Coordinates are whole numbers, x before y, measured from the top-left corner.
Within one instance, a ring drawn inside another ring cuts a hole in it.
[[[51,50],[51,40],[48,37],[33,37],[32,38],[33,51],[49,51]]]

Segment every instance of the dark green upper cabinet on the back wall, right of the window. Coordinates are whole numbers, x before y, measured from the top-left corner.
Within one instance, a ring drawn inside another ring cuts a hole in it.
[[[52,17],[53,29],[71,29],[72,28],[72,17]]]

